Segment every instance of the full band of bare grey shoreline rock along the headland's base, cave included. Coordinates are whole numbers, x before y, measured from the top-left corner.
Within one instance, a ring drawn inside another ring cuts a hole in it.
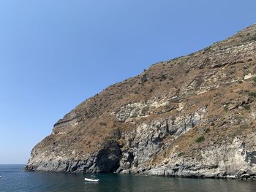
[[[252,142],[256,136],[253,135]],[[256,180],[256,152],[246,151],[241,139],[234,139],[232,145],[211,147],[201,152],[204,159],[171,158],[162,165],[148,167],[137,165],[132,153],[122,152],[117,142],[91,156],[86,161],[46,161],[37,166],[26,165],[27,171],[97,173],[115,172],[120,174],[157,175],[165,177],[222,178]],[[228,158],[228,161],[224,161]],[[173,162],[174,161],[174,162]]]

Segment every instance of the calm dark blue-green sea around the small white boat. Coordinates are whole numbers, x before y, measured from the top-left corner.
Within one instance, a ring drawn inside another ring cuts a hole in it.
[[[91,174],[24,172],[23,165],[0,165],[0,191],[256,191],[256,181],[144,177],[97,174],[99,183],[88,183]]]

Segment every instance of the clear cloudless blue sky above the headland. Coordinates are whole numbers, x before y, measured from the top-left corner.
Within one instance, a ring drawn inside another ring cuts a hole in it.
[[[255,7],[255,0],[1,0],[0,164],[25,164],[53,123],[108,85],[255,23]]]

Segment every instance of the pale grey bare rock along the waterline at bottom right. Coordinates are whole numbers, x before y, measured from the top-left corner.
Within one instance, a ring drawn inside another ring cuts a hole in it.
[[[249,142],[255,142],[255,135]],[[248,142],[248,141],[247,141]],[[152,168],[144,174],[167,177],[211,177],[230,179],[256,179],[255,147],[246,149],[238,138],[232,144],[211,146],[200,151],[201,158],[178,158],[173,156],[166,165]]]

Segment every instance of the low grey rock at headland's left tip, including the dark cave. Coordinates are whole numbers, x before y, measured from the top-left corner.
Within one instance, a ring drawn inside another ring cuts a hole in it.
[[[82,161],[75,159],[70,161],[60,156],[47,158],[41,156],[39,159],[43,161],[34,162],[36,165],[27,164],[26,169],[44,172],[115,172],[121,160],[121,150],[117,142],[110,141],[96,155],[91,155]]]

